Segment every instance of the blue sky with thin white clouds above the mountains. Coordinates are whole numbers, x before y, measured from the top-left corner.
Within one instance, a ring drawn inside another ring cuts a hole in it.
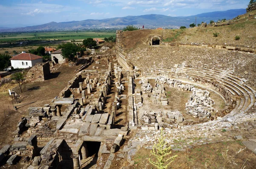
[[[247,8],[250,0],[0,0],[2,27],[128,15],[190,16]]]

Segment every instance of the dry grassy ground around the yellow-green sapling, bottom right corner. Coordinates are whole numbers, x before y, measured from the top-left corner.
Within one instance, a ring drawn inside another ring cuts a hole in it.
[[[178,156],[169,168],[255,169],[256,155],[247,148],[244,148],[245,147],[240,141],[229,141],[196,146],[184,152],[173,151],[171,156]],[[154,169],[154,167],[148,162],[148,158],[153,158],[150,154],[150,150],[139,149],[133,158],[134,165],[130,166],[129,169]]]

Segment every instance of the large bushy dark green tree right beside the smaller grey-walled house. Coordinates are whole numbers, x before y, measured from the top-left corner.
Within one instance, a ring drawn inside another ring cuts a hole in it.
[[[69,60],[75,60],[76,53],[80,50],[79,46],[70,42],[61,44],[58,48],[61,48],[63,58]]]

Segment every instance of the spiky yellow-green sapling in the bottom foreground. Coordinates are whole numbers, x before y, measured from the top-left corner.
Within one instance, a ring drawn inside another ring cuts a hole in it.
[[[170,155],[171,146],[166,146],[167,142],[166,138],[163,137],[163,129],[160,132],[160,137],[158,138],[158,142],[154,144],[153,149],[151,150],[151,155],[154,155],[156,161],[152,161],[151,158],[148,161],[157,167],[157,169],[167,169],[167,167],[174,161],[177,155],[169,157],[165,160],[166,156]]]

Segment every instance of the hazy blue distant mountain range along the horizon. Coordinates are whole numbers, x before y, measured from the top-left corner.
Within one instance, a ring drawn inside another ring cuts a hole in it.
[[[219,19],[233,19],[238,15],[245,14],[246,9],[231,9],[227,11],[207,12],[203,14],[188,17],[169,17],[159,14],[147,14],[141,16],[115,17],[102,20],[82,20],[71,22],[50,22],[43,25],[28,26],[23,28],[1,28],[0,32],[26,32],[26,31],[64,31],[64,30],[81,30],[89,28],[124,28],[127,25],[135,25],[145,28],[178,28],[180,26],[189,27],[191,23],[207,22],[210,20],[218,21]]]

